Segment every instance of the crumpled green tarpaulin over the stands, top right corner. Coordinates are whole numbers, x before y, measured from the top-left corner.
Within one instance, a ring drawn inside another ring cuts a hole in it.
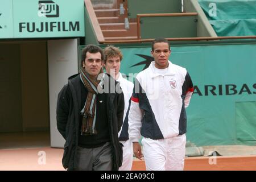
[[[256,0],[198,0],[218,36],[256,35]]]

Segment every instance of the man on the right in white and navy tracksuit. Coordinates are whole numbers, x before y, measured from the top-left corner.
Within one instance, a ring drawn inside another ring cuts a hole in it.
[[[135,79],[129,111],[129,137],[133,151],[147,170],[183,170],[187,131],[185,107],[193,84],[185,68],[172,64],[170,44],[163,38],[152,42],[154,61]]]

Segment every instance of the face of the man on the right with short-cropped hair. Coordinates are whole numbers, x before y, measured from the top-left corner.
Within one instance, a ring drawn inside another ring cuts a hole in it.
[[[154,51],[151,51],[151,55],[154,57],[156,68],[164,69],[168,67],[168,59],[171,55],[168,43],[155,43]]]

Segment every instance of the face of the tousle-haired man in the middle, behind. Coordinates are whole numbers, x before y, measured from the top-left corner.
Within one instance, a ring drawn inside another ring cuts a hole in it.
[[[118,75],[120,70],[121,60],[119,56],[108,57],[106,63],[104,64],[106,68],[106,73],[115,77]]]

